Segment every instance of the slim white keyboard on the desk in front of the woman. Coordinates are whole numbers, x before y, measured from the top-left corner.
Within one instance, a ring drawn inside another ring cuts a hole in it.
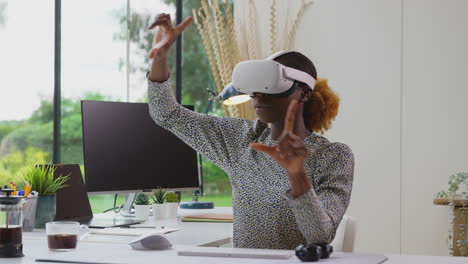
[[[199,247],[194,249],[179,250],[177,254],[179,256],[289,259],[295,255],[295,252],[294,250],[283,249]]]

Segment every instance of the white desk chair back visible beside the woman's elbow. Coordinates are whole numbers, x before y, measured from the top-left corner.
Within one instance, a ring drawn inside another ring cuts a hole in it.
[[[356,232],[357,219],[349,215],[344,215],[336,230],[335,238],[331,243],[333,245],[333,251],[353,252]]]

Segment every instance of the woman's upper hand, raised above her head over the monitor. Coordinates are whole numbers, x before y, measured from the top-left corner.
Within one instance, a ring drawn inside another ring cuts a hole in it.
[[[184,31],[185,27],[192,22],[192,19],[192,17],[188,17],[176,27],[172,27],[171,15],[164,13],[157,15],[153,24],[148,28],[153,29],[156,27],[153,45],[149,55],[150,58],[154,58],[154,56],[159,52],[167,54],[172,43],[177,40],[177,37],[182,33],[182,31]]]

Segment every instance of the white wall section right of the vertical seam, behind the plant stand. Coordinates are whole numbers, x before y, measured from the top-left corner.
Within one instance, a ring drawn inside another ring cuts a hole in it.
[[[446,253],[448,209],[431,204],[468,171],[468,1],[406,0],[403,12],[402,247]]]

